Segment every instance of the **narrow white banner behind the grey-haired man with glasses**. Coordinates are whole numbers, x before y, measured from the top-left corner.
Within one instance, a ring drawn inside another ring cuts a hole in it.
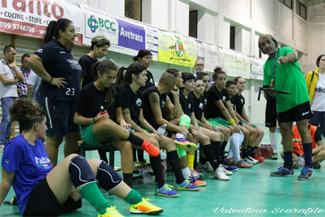
[[[217,66],[223,67],[223,52],[215,45],[208,45],[203,42],[204,52],[204,70],[213,71]],[[222,49],[221,49],[222,50]]]

